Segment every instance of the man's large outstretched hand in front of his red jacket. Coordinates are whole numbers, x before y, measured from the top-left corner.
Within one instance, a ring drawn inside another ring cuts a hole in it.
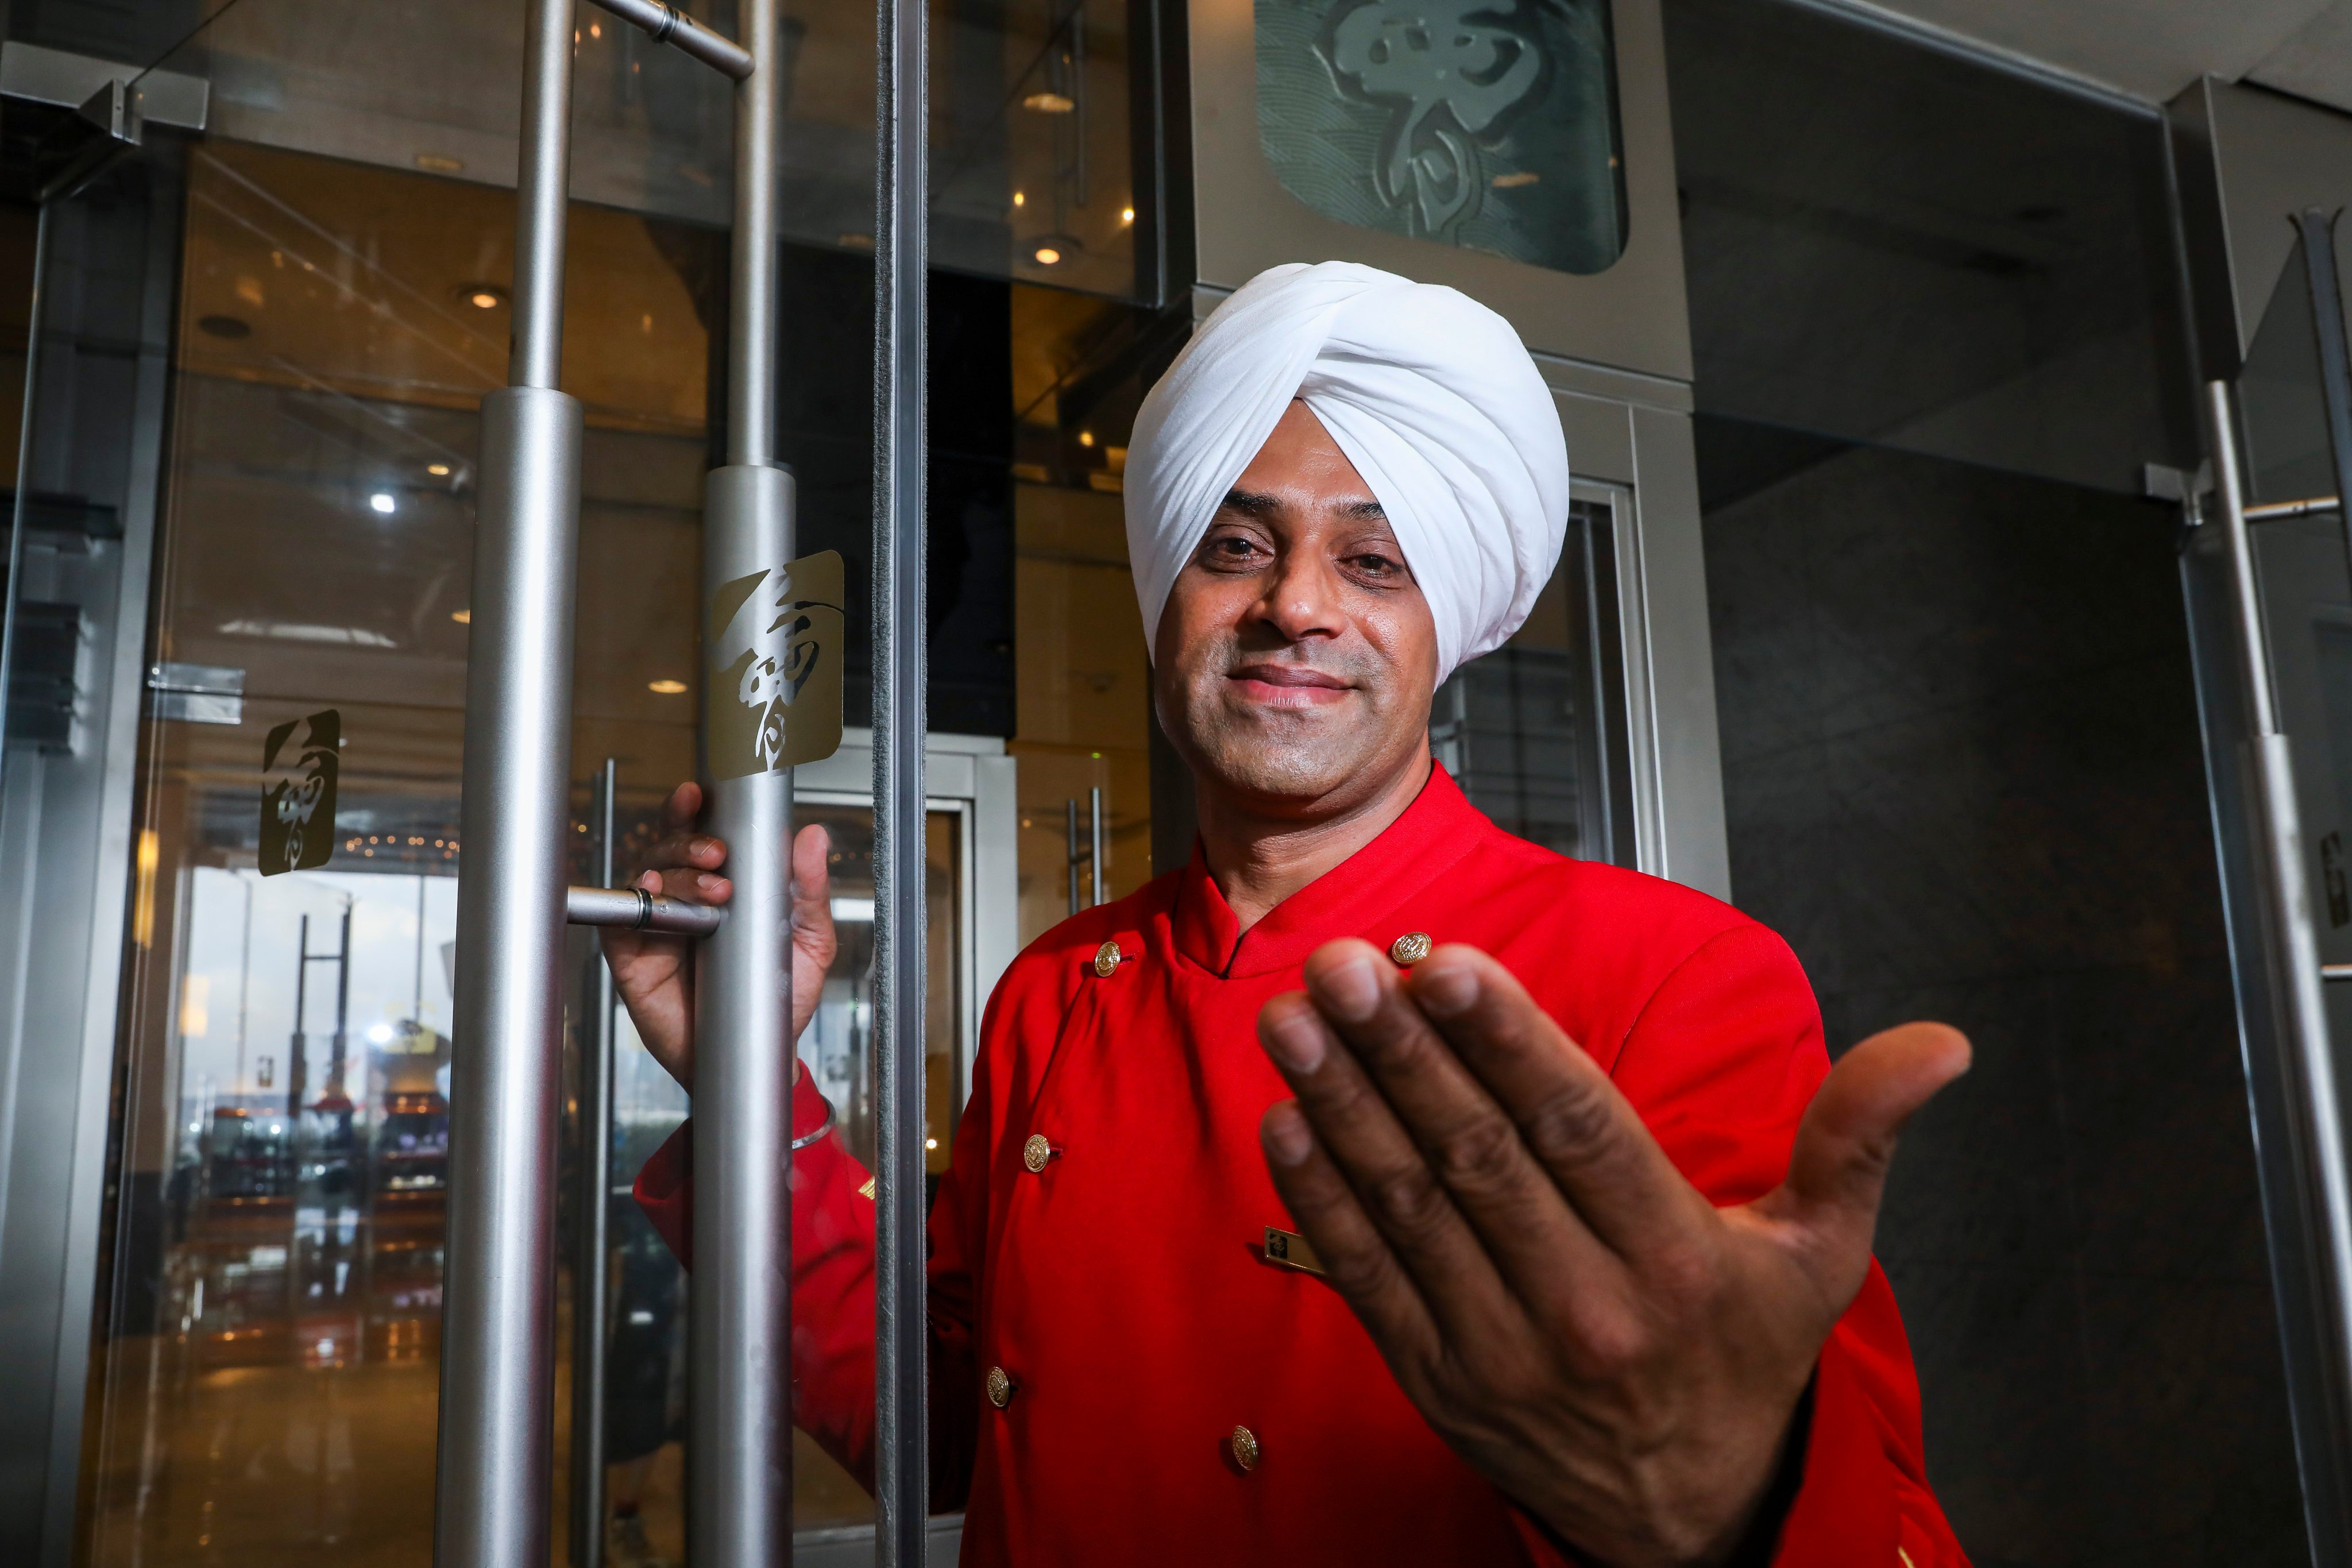
[[[1428,1422],[1581,1554],[1743,1542],[1860,1291],[1896,1133],[1969,1070],[1933,1023],[1813,1095],[1788,1180],[1715,1208],[1609,1077],[1475,947],[1317,950],[1258,1039],[1275,1187]]]

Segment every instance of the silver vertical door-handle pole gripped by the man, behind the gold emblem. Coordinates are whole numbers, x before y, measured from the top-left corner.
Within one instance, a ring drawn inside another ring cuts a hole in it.
[[[779,0],[743,0],[736,87],[727,465],[703,501],[703,604],[793,559],[793,475],[776,454]],[[731,701],[703,682],[703,703]],[[717,778],[734,905],[703,943],[694,1044],[694,1396],[687,1554],[696,1568],[793,1561],[793,773]]]

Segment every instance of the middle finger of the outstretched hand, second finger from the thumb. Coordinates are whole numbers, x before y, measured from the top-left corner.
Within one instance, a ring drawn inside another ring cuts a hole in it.
[[[1606,1248],[1406,994],[1395,964],[1369,943],[1329,943],[1308,959],[1305,983],[1519,1295],[1548,1295],[1562,1276],[1597,1284]],[[1432,1291],[1451,1284],[1432,1281]]]

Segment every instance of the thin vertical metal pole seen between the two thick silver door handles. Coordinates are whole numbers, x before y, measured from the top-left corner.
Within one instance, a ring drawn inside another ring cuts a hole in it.
[[[595,776],[588,830],[595,884],[612,886],[612,823],[621,764]],[[604,1359],[612,1335],[612,969],[588,964],[588,1027],[581,1030],[581,1159],[572,1255],[572,1561],[604,1568]]]

